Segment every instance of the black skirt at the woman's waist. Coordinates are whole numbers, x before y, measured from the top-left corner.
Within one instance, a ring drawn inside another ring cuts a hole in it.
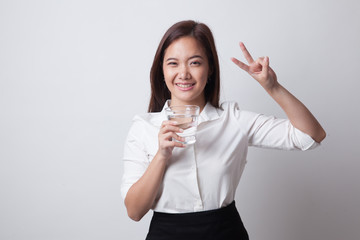
[[[236,209],[230,205],[194,213],[154,212],[146,240],[248,240]]]

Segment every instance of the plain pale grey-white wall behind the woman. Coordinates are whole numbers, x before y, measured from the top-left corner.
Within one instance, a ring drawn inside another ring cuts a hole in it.
[[[173,23],[212,29],[222,100],[285,117],[230,57],[244,41],[327,131],[250,149],[236,204],[253,240],[360,239],[358,1],[0,1],[0,239],[144,239],[120,197],[123,144]]]

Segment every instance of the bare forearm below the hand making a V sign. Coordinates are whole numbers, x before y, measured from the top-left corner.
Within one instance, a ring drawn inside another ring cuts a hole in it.
[[[294,127],[307,133],[318,143],[325,138],[326,133],[317,119],[301,101],[283,86],[276,83],[275,86],[273,86],[271,90],[267,90],[267,92],[285,111]]]

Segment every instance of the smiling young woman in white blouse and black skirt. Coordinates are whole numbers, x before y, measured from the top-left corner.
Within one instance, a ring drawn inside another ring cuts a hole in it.
[[[285,111],[277,119],[219,104],[220,70],[214,39],[202,23],[174,24],[162,38],[151,68],[149,113],[135,116],[124,148],[122,196],[128,215],[154,215],[146,239],[248,239],[234,198],[248,146],[314,148],[325,131],[310,111],[277,81],[269,58],[248,72]],[[168,121],[167,106],[200,107],[196,143],[184,145],[183,130]],[[179,141],[174,141],[177,139]]]

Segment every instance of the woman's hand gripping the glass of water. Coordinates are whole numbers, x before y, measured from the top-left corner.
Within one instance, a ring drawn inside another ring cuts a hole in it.
[[[183,129],[177,126],[177,122],[175,121],[163,121],[161,124],[161,128],[159,131],[159,150],[158,154],[161,157],[168,160],[172,156],[172,151],[174,147],[184,148],[186,145],[180,142],[185,141],[184,138],[180,137],[176,133],[182,133]],[[180,142],[173,141],[176,139]]]

